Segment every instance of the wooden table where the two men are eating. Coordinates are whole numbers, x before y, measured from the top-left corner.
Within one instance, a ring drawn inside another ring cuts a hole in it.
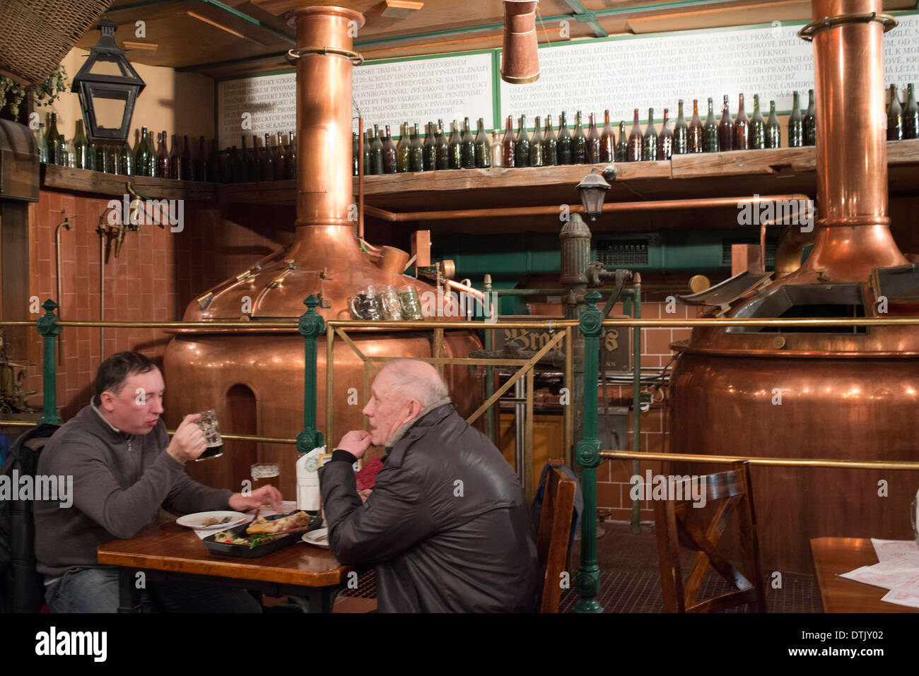
[[[186,581],[293,596],[309,601],[309,612],[329,613],[335,593],[351,570],[328,549],[294,543],[264,557],[228,557],[206,549],[194,531],[160,524],[130,540],[98,547],[101,564],[119,566],[119,613],[139,613],[138,571],[147,580]]]

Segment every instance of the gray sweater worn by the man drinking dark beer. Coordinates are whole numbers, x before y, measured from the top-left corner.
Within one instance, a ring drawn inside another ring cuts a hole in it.
[[[92,405],[55,432],[41,451],[38,473],[73,475],[74,503],[35,502],[38,571],[56,578],[68,569],[101,568],[96,547],[152,527],[161,506],[184,513],[229,509],[232,491],[189,479],[167,445],[162,419],[150,434],[126,437]]]

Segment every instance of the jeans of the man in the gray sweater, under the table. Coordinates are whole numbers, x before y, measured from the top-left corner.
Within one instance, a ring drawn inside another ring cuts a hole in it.
[[[116,613],[118,569],[71,569],[45,589],[51,613]],[[188,582],[147,583],[143,613],[261,613],[248,591]]]

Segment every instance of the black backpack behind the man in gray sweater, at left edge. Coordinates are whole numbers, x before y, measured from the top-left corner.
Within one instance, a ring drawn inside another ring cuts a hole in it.
[[[40,424],[20,434],[10,450],[0,477],[35,476],[41,448],[58,429]],[[32,502],[0,500],[0,612],[38,613],[44,603],[44,582],[35,569],[35,524]]]

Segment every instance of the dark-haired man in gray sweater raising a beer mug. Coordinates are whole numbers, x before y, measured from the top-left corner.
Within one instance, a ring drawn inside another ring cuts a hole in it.
[[[169,440],[160,418],[164,389],[160,370],[144,355],[112,355],[99,366],[92,402],[42,450],[39,474],[74,477],[73,507],[35,503],[35,557],[52,613],[116,612],[118,569],[100,566],[96,547],[153,526],[161,506],[185,513],[242,511],[263,502],[280,507],[272,486],[242,495],[188,478],[185,464],[207,442],[197,415],[187,415]],[[176,582],[148,584],[142,603],[148,611],[260,611],[245,591]]]

